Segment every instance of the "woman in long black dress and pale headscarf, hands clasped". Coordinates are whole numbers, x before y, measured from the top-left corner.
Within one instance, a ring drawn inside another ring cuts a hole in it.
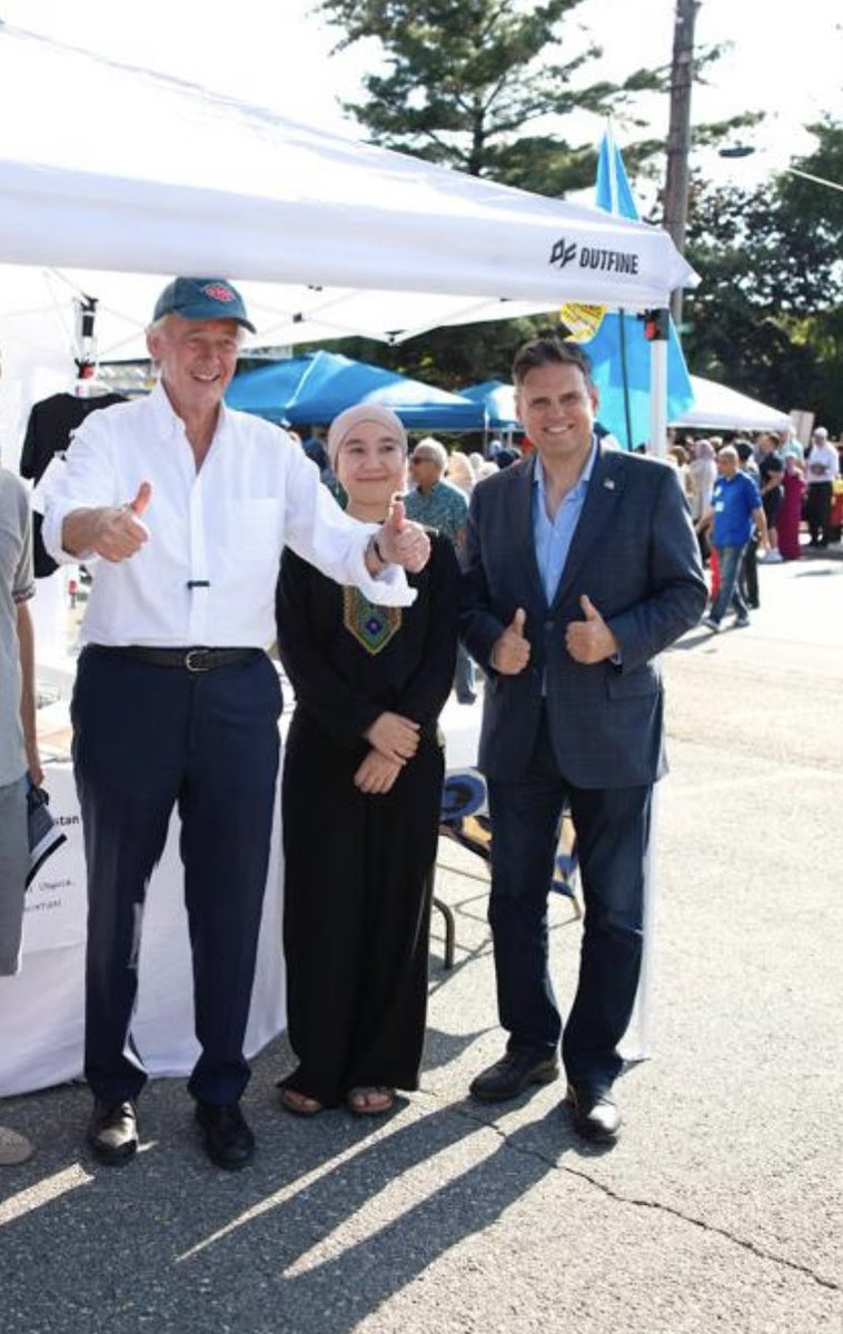
[[[335,419],[331,464],[356,519],[404,487],[407,435],[388,408]],[[400,504],[400,502],[397,502]],[[411,607],[377,607],[285,551],[281,662],[296,694],[283,779],[288,1111],[388,1111],[416,1089],[459,571],[450,540],[408,575]]]

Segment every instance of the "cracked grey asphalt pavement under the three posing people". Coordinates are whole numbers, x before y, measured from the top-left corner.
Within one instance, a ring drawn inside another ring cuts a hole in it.
[[[748,630],[664,656],[651,1059],[624,1131],[578,1141],[560,1083],[467,1099],[496,1059],[484,868],[451,843],[423,1087],[385,1119],[279,1109],[255,1062],[255,1163],[204,1158],[183,1081],[141,1153],[80,1149],[83,1087],[8,1099],[37,1143],[0,1171],[3,1334],[814,1334],[843,1330],[843,559],[764,566]],[[554,900],[567,1003],[579,926]],[[0,1039],[1,1041],[1,1039]]]

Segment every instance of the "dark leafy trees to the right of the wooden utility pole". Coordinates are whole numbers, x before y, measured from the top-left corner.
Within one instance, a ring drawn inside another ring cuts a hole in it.
[[[818,148],[798,171],[843,181],[843,124],[811,127]],[[784,410],[843,426],[843,193],[783,173],[752,191],[695,185],[686,296],[690,364]]]

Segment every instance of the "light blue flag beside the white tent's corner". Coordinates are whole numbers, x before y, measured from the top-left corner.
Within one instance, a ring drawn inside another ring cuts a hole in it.
[[[598,159],[598,208],[620,217],[638,219],[638,208],[615,144],[611,123]],[[592,339],[582,344],[591,358],[594,382],[600,392],[598,420],[624,450],[650,440],[650,344],[638,315],[610,311]],[[688,368],[679,338],[670,323],[667,343],[667,420],[672,422],[694,403]]]

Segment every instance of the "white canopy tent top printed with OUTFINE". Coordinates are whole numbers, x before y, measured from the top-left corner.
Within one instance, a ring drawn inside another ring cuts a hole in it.
[[[647,224],[434,167],[0,21],[0,342],[72,376],[143,355],[173,273],[243,287],[260,343],[551,309],[664,305],[694,281]],[[12,269],[8,265],[24,265]],[[61,272],[56,272],[60,269]]]

